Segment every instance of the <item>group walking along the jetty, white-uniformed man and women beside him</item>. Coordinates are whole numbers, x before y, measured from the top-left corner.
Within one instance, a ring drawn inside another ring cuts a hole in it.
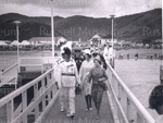
[[[91,100],[95,102],[97,119],[100,118],[100,104],[103,91],[106,89],[106,63],[102,54],[84,50],[85,60],[79,72],[75,60],[71,57],[71,49],[65,47],[61,51],[62,58],[54,67],[55,83],[59,87],[61,112],[66,111],[67,118],[75,116],[75,88],[79,86],[86,100],[86,111],[92,110]]]

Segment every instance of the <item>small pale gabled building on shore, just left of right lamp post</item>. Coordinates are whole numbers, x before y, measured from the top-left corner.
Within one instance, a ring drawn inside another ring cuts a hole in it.
[[[91,45],[99,46],[104,44],[112,44],[112,36],[106,34],[96,34],[89,39]],[[115,44],[117,39],[113,40],[113,44]]]

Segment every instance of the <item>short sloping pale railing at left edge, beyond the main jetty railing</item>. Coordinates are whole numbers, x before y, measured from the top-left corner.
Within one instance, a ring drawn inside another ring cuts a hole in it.
[[[18,77],[17,69],[18,66],[16,63],[0,73],[0,87],[3,85],[15,85],[16,88]]]

